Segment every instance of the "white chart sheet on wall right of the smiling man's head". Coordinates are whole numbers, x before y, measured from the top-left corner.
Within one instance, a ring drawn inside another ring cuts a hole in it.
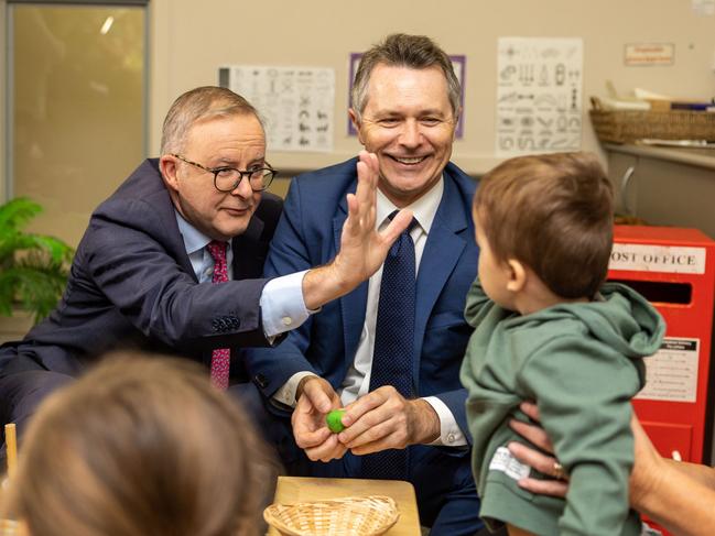
[[[497,156],[581,149],[583,41],[500,37]]]

